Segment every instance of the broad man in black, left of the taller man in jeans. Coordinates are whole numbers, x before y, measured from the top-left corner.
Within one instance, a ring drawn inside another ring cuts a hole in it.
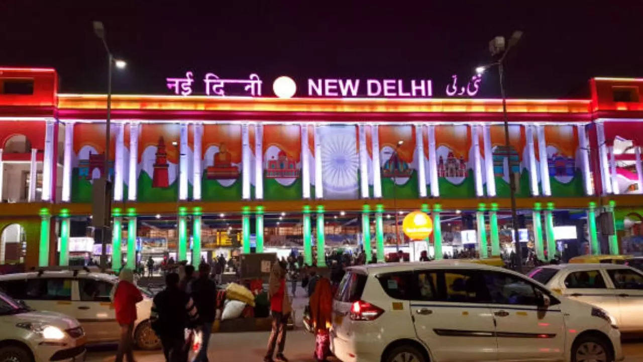
[[[188,359],[185,329],[196,325],[198,319],[192,298],[179,289],[179,274],[168,273],[165,289],[154,297],[150,314],[152,329],[161,339],[166,362],[185,362]]]

